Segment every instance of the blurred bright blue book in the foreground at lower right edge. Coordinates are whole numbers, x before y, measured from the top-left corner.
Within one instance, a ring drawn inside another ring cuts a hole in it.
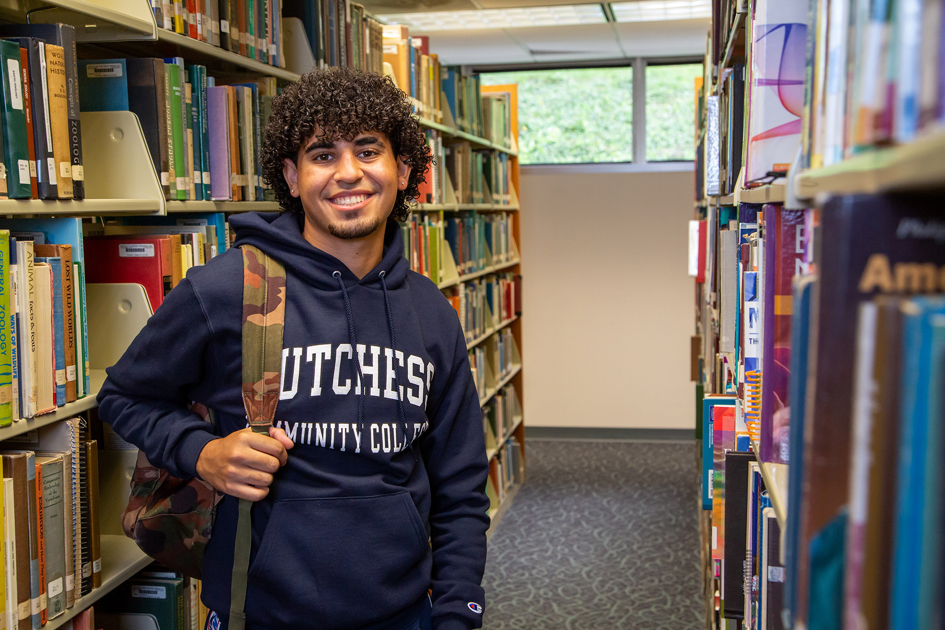
[[[922,580],[928,562],[937,563],[936,549],[925,549],[932,538],[937,547],[941,531],[926,525],[941,523],[940,502],[926,503],[927,490],[940,494],[941,381],[945,335],[935,326],[945,318],[945,298],[913,298],[902,307],[902,400],[900,401],[899,464],[895,534],[889,600],[890,630],[931,628],[929,605],[935,606],[936,571]],[[933,390],[936,390],[933,392]],[[929,440],[939,440],[929,442]],[[937,452],[936,452],[937,451]],[[932,460],[932,461],[930,461]],[[930,468],[936,473],[927,476]],[[936,509],[937,508],[937,509]],[[926,514],[935,512],[936,514]],[[928,560],[923,558],[928,556]],[[922,625],[923,621],[925,625]]]

